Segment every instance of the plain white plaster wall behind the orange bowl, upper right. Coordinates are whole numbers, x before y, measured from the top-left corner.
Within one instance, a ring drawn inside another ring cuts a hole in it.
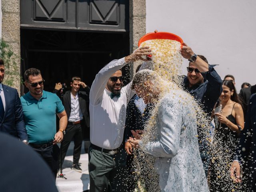
[[[146,32],[172,32],[204,55],[223,79],[256,84],[255,0],[146,0]],[[186,74],[188,61],[182,64]]]

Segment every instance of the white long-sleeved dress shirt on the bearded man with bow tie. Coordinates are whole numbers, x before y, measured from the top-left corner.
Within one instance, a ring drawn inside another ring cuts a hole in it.
[[[110,62],[96,75],[90,90],[90,141],[105,149],[116,149],[123,141],[126,108],[134,92],[129,83],[119,98],[111,99],[105,87],[111,75],[126,64],[124,58]]]

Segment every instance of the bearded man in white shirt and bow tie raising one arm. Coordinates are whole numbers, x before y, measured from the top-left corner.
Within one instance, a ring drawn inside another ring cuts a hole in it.
[[[130,84],[122,88],[121,68],[151,54],[149,47],[113,60],[96,75],[90,90],[90,192],[126,191],[126,153],[122,145],[126,108],[134,95]]]

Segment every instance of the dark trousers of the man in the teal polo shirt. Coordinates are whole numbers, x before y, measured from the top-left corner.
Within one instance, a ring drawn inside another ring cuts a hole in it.
[[[46,161],[50,169],[52,170],[52,173],[54,174],[54,178],[56,178],[57,175],[57,168],[58,168],[58,154],[60,152],[60,148],[58,145],[51,145],[46,148],[32,148],[42,156],[42,158]],[[40,174],[40,173],[38,173]]]

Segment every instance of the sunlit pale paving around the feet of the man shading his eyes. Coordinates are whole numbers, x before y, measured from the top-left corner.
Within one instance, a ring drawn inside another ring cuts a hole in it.
[[[82,153],[84,153],[84,143],[82,145]],[[64,164],[63,164],[63,174],[64,178],[56,178],[56,186],[59,192],[83,192],[89,188],[89,173],[88,173],[88,154],[81,154],[80,163],[82,173],[76,172],[71,169],[73,164],[73,142],[68,148],[68,152]]]

